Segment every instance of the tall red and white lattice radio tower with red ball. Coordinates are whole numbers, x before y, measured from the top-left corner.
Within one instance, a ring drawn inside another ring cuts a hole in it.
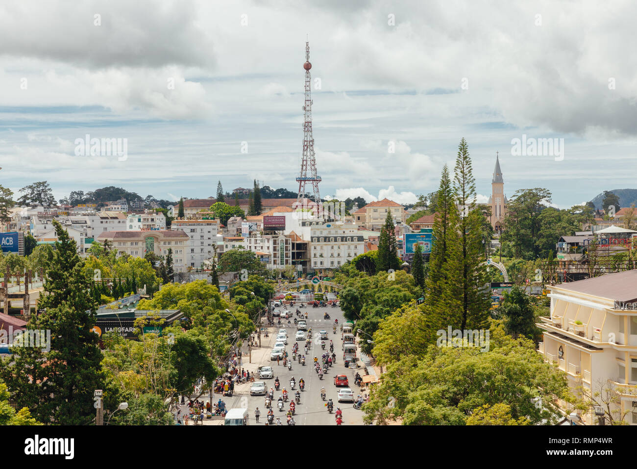
[[[317,162],[314,157],[314,137],[312,137],[312,98],[310,95],[311,77],[310,68],[310,43],[305,43],[305,121],[303,124],[303,161],[301,161],[301,174],[296,178],[299,181],[299,194],[296,197],[296,204],[303,204],[305,198],[305,184],[311,182],[313,194],[311,199],[316,202],[317,207],[321,207],[320,195],[318,193],[318,183],[320,176],[317,175]]]

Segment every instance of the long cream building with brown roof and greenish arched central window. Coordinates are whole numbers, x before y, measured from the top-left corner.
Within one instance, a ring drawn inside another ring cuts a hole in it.
[[[174,271],[186,270],[189,235],[182,230],[106,231],[96,238],[96,241],[102,243],[107,240],[117,249],[118,254],[126,253],[132,257],[145,257],[147,253],[166,257],[168,249],[172,249]]]

